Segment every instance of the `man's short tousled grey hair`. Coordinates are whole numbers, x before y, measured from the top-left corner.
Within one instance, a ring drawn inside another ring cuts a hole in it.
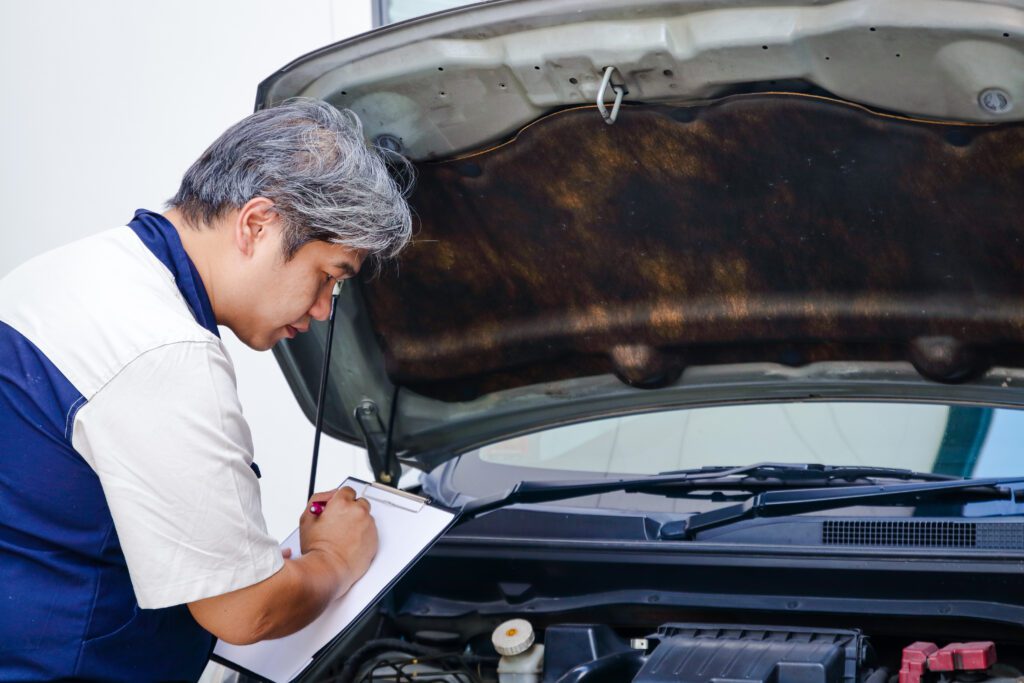
[[[366,251],[376,264],[412,238],[412,179],[404,158],[367,145],[355,114],[295,98],[224,131],[168,206],[200,225],[265,197],[284,221],[286,258],[319,240]]]

